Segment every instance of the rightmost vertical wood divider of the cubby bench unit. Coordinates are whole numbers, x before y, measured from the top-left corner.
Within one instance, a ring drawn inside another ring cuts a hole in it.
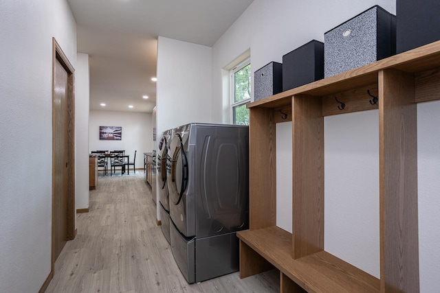
[[[381,292],[419,292],[415,81],[379,73]]]

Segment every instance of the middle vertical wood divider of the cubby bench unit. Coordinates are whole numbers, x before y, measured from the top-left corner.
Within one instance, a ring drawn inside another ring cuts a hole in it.
[[[292,98],[294,259],[324,250],[324,118],[320,97]]]

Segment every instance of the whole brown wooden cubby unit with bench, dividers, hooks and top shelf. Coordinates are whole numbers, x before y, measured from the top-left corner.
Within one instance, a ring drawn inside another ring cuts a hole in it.
[[[436,99],[440,41],[249,104],[250,228],[237,233],[240,277],[275,267],[281,292],[419,292],[417,102]],[[324,117],[375,108],[380,279],[324,250]],[[292,121],[293,233],[276,226],[275,129],[283,121]]]

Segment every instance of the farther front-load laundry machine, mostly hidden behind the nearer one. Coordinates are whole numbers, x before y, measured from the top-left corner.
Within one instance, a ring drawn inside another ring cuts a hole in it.
[[[166,169],[170,167],[170,161],[167,155],[168,146],[172,137],[172,129],[164,131],[159,141],[157,152],[157,189],[159,189],[161,227],[168,244],[170,243],[170,205],[168,186],[166,185]]]

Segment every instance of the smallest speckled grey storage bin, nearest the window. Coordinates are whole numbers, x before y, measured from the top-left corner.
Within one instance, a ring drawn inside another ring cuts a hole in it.
[[[283,91],[283,65],[270,62],[254,73],[254,101]]]

